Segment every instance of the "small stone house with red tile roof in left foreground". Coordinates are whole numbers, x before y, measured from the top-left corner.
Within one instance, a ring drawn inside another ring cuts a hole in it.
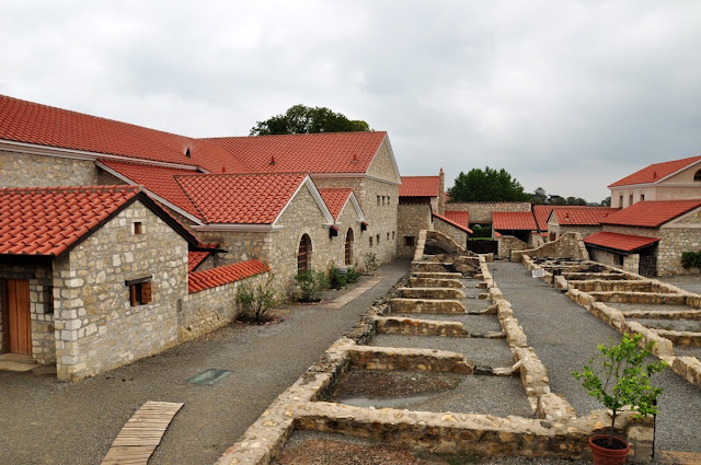
[[[0,206],[2,352],[76,380],[177,342],[187,252],[208,249],[138,186],[0,188]]]

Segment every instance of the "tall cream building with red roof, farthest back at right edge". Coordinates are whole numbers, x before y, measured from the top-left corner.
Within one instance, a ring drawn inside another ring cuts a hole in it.
[[[643,200],[701,198],[701,156],[653,163],[608,186],[611,207]]]

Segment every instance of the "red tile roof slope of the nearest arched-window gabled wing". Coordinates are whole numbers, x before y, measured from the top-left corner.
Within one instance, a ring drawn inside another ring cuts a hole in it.
[[[207,223],[272,224],[304,173],[175,176]]]

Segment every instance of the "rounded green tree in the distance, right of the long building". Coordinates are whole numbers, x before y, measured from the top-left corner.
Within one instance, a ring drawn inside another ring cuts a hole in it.
[[[460,173],[448,189],[451,201],[528,201],[531,195],[504,168],[472,168]]]

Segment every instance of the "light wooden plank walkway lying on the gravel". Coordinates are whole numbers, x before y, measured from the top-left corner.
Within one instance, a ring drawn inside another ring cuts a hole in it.
[[[183,404],[149,400],[126,422],[102,465],[146,465]]]

